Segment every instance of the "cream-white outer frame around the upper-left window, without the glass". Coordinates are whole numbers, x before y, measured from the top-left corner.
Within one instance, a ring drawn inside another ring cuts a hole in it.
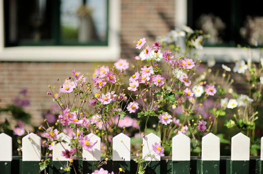
[[[116,61],[120,58],[120,0],[109,1],[108,46],[4,47],[4,0],[0,0],[0,61]]]

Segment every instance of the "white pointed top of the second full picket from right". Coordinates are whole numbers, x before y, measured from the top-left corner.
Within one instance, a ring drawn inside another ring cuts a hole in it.
[[[220,161],[220,138],[212,133],[202,138],[202,161]]]

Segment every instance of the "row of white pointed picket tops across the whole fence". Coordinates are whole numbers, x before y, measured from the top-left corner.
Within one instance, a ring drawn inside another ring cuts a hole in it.
[[[83,150],[83,161],[100,161],[101,160],[101,139],[94,135],[88,135],[91,142],[98,141],[92,151]],[[67,161],[62,156],[64,148],[70,150],[70,137],[64,133],[59,134],[62,140],[66,143],[63,145],[53,144],[53,161]],[[12,138],[5,133],[0,134],[0,162],[12,161]],[[146,161],[160,161],[160,156],[157,156],[152,150],[152,145],[160,142],[160,137],[153,133],[148,134],[143,138],[143,158]],[[231,160],[232,161],[249,161],[249,138],[242,133],[238,133],[231,138]],[[261,138],[261,156],[263,160],[263,137]],[[22,160],[23,161],[41,161],[41,137],[34,133],[30,133],[22,139]],[[112,139],[113,155],[112,161],[130,161],[130,137],[123,133],[118,134]],[[151,157],[154,156],[152,159]],[[220,138],[212,133],[207,134],[202,138],[201,148],[202,161],[219,161],[220,160]],[[178,134],[172,138],[172,161],[190,161],[190,138],[184,134]]]

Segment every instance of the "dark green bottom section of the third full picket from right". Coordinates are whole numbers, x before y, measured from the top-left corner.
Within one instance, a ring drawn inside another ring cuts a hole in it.
[[[172,174],[189,174],[190,161],[172,161]]]

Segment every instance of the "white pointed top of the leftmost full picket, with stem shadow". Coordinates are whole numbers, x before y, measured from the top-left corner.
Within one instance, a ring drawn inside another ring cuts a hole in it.
[[[22,161],[41,161],[41,138],[34,133],[22,139]]]

